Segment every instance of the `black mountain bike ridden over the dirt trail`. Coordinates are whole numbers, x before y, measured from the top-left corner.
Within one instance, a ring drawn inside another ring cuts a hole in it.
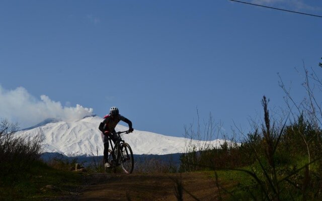
[[[116,172],[117,166],[121,165],[123,172],[126,174],[130,174],[133,171],[134,168],[134,157],[133,157],[133,152],[129,144],[125,143],[124,140],[122,140],[120,134],[122,133],[130,133],[128,131],[122,131],[122,132],[117,132],[116,134],[118,135],[118,138],[115,142],[115,145],[113,147],[113,143],[111,138],[109,138],[109,143],[111,145],[111,149],[108,150],[109,152],[109,157],[108,161],[105,161],[103,159],[103,166],[105,169],[105,172],[108,172],[108,169],[113,168],[114,172]],[[113,154],[114,153],[114,154]],[[106,162],[112,162],[114,161],[114,165],[111,167],[105,167]]]

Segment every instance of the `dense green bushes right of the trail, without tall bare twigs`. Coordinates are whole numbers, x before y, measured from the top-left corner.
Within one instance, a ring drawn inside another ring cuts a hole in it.
[[[181,157],[180,171],[234,169],[247,173],[252,183],[238,192],[250,200],[320,200],[322,198],[321,130],[299,115],[286,125],[276,124],[262,99],[264,121],[240,144],[191,152]],[[242,182],[242,181],[240,181]],[[233,197],[236,197],[233,195]]]

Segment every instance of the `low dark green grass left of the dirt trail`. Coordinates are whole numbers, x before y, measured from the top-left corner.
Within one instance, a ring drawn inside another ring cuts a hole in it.
[[[82,173],[53,169],[35,162],[30,170],[6,175],[0,180],[0,200],[43,200],[45,197],[68,196],[82,183]],[[57,187],[46,188],[46,185]]]

